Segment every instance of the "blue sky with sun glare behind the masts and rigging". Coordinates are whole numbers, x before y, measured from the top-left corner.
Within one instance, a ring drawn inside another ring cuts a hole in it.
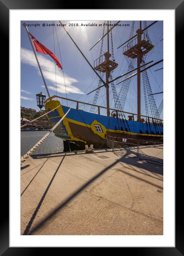
[[[116,23],[117,21],[112,21]],[[147,21],[147,25],[151,24],[153,21]],[[86,95],[91,90],[97,88],[98,86],[98,77],[94,71],[87,64],[86,60],[83,58],[81,53],[78,51],[76,46],[73,44],[69,36],[66,34],[65,30],[58,26],[42,26],[45,24],[52,24],[53,21],[21,21],[21,105],[24,107],[34,108],[39,110],[36,103],[36,94],[46,93],[44,83],[40,74],[40,71],[37,67],[35,56],[33,54],[29,38],[27,36],[26,30],[23,26],[23,23],[30,25],[40,24],[40,26],[30,26],[29,32],[35,36],[42,44],[44,44],[48,49],[50,49],[57,56],[58,60],[61,63],[63,72],[65,75],[65,83],[67,90],[67,98],[78,99],[83,102],[93,101],[94,93]],[[104,21],[62,21],[63,24],[67,24],[66,29],[71,34],[72,38],[75,40],[79,48],[85,54],[86,58],[90,61],[93,66],[93,61],[99,57],[99,50],[101,43],[98,43],[94,48],[89,51],[89,49],[101,38],[103,33],[103,26],[68,26],[68,23],[78,23],[81,25],[88,23],[103,24]],[[55,25],[59,24],[58,21],[55,21]],[[115,60],[118,63],[118,67],[114,70],[113,77],[117,77],[125,72],[127,72],[127,61],[124,58],[123,47],[117,50],[117,47],[128,40],[132,21],[121,21],[120,24],[130,24],[130,26],[121,26],[114,28],[112,30],[113,36],[113,49]],[[134,33],[138,29],[139,22],[135,22]],[[143,25],[142,25],[143,26]],[[56,30],[58,36],[58,42],[60,51],[58,48]],[[107,27],[105,27],[107,31]],[[54,32],[54,34],[53,34]],[[153,60],[158,61],[163,59],[163,21],[158,21],[153,26],[148,29],[149,38],[152,41],[152,44],[155,46],[152,51],[147,55],[147,62]],[[107,51],[107,37],[104,38],[103,51]],[[55,41],[55,50],[54,50],[54,41]],[[111,49],[111,47],[110,47]],[[111,51],[111,50],[110,50]],[[61,59],[60,59],[61,52]],[[39,62],[48,86],[50,95],[56,94],[57,86],[57,95],[61,97],[66,97],[65,84],[63,79],[63,72],[56,66],[55,73],[55,62],[49,55],[44,55],[37,53]],[[149,82],[152,87],[152,92],[163,92],[163,69],[154,72],[154,70],[162,68],[163,62],[154,66],[151,69],[148,69]],[[120,81],[120,80],[119,80]],[[115,83],[116,84],[116,83]],[[117,92],[119,92],[121,86],[116,86]],[[86,91],[86,92],[85,92]],[[114,107],[113,95],[110,91],[110,104],[111,108]],[[85,92],[85,93],[84,93]],[[97,104],[105,104],[105,88],[102,88],[99,93],[99,99]],[[127,112],[137,113],[137,76],[131,80],[129,86],[129,91],[127,94],[127,100],[124,107],[124,110]],[[160,102],[163,99],[163,94],[157,94],[154,96],[157,107],[159,107]],[[142,114],[145,114],[145,103],[144,103],[144,92],[143,86],[141,88],[141,111]],[[163,118],[163,113],[161,114]]]

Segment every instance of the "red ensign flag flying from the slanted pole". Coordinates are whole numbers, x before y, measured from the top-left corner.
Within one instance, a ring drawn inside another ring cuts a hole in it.
[[[34,43],[36,51],[43,54],[48,54],[51,56],[51,58],[55,61],[56,65],[62,69],[61,64],[58,61],[58,58],[52,53],[52,51],[48,50],[42,43],[40,43],[33,35],[30,35],[30,38],[32,39],[32,42]]]

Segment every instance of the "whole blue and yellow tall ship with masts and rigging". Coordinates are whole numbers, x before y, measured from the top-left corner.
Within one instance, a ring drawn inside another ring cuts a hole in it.
[[[62,23],[59,21],[61,26]],[[132,21],[129,38],[124,38],[118,48],[121,48],[122,58],[127,61],[127,72],[118,77],[113,77],[113,72],[118,67],[114,57],[112,29],[119,29],[117,26],[120,21],[112,26],[111,21],[106,21],[107,28],[104,26],[103,35],[96,44],[101,45],[99,57],[91,64],[85,54],[80,50],[71,35],[63,26],[63,33],[67,33],[72,44],[78,49],[78,54],[82,54],[87,65],[93,69],[99,82],[97,88],[88,92],[94,95],[93,102],[86,103],[58,95],[50,96],[48,89],[48,98],[38,97],[41,107],[45,103],[45,110],[53,110],[47,114],[47,118],[53,127],[68,112],[60,125],[54,130],[56,137],[61,138],[64,143],[65,151],[85,149],[85,145],[93,145],[94,149],[106,148],[108,138],[120,138],[122,141],[143,140],[143,141],[163,141],[163,120],[160,114],[163,109],[163,100],[159,106],[154,100],[154,93],[150,86],[147,70],[161,63],[163,59],[157,62],[146,62],[147,54],[153,50],[154,45],[148,35],[148,28],[154,26],[157,21],[147,26],[146,21]],[[134,32],[135,23],[139,28]],[[109,24],[111,26],[109,26]],[[103,49],[103,43],[106,41],[106,48]],[[92,48],[93,48],[92,47]],[[91,48],[91,49],[92,49]],[[90,49],[90,50],[91,50]],[[132,77],[137,76],[137,113],[124,111],[124,105],[131,83]],[[118,81],[118,83],[117,83]],[[115,84],[116,83],[116,84]],[[117,93],[117,85],[121,86]],[[106,90],[105,105],[97,105],[99,92],[101,88]],[[109,90],[112,90],[114,107],[110,107]],[[145,113],[141,113],[141,90],[144,91]],[[161,92],[163,93],[163,92]]]

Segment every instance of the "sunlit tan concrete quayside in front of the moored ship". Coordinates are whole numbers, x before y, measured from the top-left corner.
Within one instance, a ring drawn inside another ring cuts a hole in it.
[[[163,235],[163,167],[120,149],[33,155],[21,167],[21,235]]]

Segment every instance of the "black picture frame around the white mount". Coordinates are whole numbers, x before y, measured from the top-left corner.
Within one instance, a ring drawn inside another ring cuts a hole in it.
[[[182,58],[182,33],[184,24],[184,2],[183,0],[143,0],[143,1],[92,1],[92,9],[174,9],[175,10],[175,33],[176,33],[176,83],[182,74],[182,65],[180,65],[179,58]],[[10,9],[71,9],[71,3],[61,0],[0,0],[0,31],[1,31],[1,60],[3,60],[3,74],[6,75],[6,87],[8,83],[8,67],[9,67],[9,10]],[[72,9],[87,9],[85,4],[81,7],[78,2],[72,2]],[[169,28],[168,28],[169,29]],[[16,39],[15,39],[16,40]],[[183,84],[183,83],[182,83]],[[180,84],[182,86],[182,84]],[[179,85],[179,82],[178,82]],[[7,107],[6,107],[7,110]],[[177,119],[177,114],[176,114]],[[2,125],[4,126],[4,125]],[[6,152],[7,154],[7,152]],[[11,161],[11,159],[10,159]],[[3,163],[3,162],[2,162]],[[7,162],[6,162],[7,165]],[[182,168],[180,168],[182,172]],[[180,173],[175,173],[176,189],[176,208],[175,208],[175,247],[129,247],[128,253],[135,253],[136,255],[167,255],[180,256],[184,255],[184,225],[182,216],[182,198],[183,195],[183,180]],[[3,182],[2,182],[3,181]],[[4,186],[2,186],[4,184]],[[40,249],[34,247],[9,247],[9,172],[6,168],[1,169],[1,226],[0,226],[0,255],[34,255],[40,253]],[[19,207],[19,206],[17,206]],[[144,239],[144,238],[143,238]],[[62,250],[62,248],[58,248]],[[53,248],[46,248],[47,253],[51,252]],[[41,251],[43,253],[43,251]],[[53,253],[53,252],[52,252]]]

